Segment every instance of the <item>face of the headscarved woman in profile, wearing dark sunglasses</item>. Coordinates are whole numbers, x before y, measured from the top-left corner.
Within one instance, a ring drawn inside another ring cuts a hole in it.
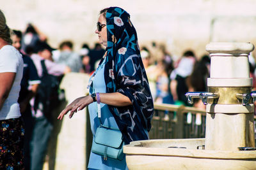
[[[96,29],[95,33],[98,34],[99,36],[99,43],[107,47],[108,46],[107,26],[106,26],[106,18],[104,18],[103,13],[100,14],[98,22],[100,25],[102,25],[102,29],[101,31]]]

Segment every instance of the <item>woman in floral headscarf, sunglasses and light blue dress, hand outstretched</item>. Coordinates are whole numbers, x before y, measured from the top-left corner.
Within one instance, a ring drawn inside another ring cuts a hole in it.
[[[94,96],[95,92],[99,92],[101,121],[104,125],[120,129],[125,144],[148,139],[150,120],[154,111],[153,101],[140,57],[136,30],[129,19],[129,14],[118,7],[100,11],[95,33],[98,34],[100,43],[106,46],[106,53],[97,71],[90,78],[90,95],[77,98],[58,118],[63,118],[68,111],[71,118],[76,111],[90,104],[90,121],[94,136],[100,122],[97,118],[97,103],[93,101],[99,99]],[[91,152],[89,169],[113,167],[127,168],[125,159],[103,160],[101,156]]]

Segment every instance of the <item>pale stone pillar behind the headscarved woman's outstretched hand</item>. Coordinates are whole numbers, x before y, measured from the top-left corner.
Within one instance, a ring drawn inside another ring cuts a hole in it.
[[[68,73],[63,77],[60,87],[65,90],[68,104],[86,95],[88,79],[88,74],[83,73]],[[77,111],[71,119],[68,115],[63,118],[58,134],[55,169],[87,169],[92,143],[87,110]]]

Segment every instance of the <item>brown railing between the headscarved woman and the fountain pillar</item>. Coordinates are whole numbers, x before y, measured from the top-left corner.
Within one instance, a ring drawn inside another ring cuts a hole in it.
[[[150,139],[205,138],[205,110],[156,103],[154,109]]]

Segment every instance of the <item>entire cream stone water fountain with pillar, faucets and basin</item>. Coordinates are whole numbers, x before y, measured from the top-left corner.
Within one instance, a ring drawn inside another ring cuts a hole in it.
[[[129,169],[256,169],[251,43],[209,43],[209,92],[188,92],[206,104],[205,138],[153,139],[124,146]]]

